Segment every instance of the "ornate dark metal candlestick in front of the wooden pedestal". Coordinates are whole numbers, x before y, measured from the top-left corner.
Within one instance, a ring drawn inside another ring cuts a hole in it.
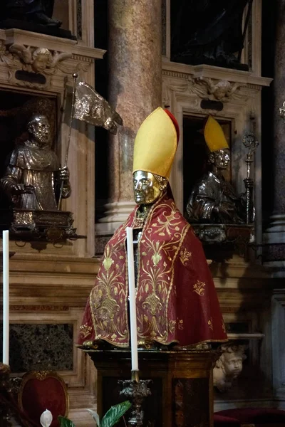
[[[132,379],[122,379],[118,381],[118,384],[123,386],[123,389],[120,391],[120,395],[129,399],[133,403],[128,427],[143,425],[142,402],[151,394],[151,391],[148,388],[148,384],[150,384],[151,380],[139,379],[138,372],[139,371],[132,371]]]

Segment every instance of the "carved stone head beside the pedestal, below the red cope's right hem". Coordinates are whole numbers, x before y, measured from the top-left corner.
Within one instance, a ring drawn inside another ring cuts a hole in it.
[[[224,344],[221,346],[222,354],[214,367],[214,386],[219,391],[227,391],[232,387],[232,382],[242,372],[242,362],[246,359],[244,354],[246,345]]]

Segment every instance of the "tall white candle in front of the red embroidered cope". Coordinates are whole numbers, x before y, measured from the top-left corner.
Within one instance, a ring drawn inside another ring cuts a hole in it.
[[[135,307],[135,265],[133,255],[133,228],[127,227],[128,278],[130,300],[130,346],[132,371],[138,371],[137,310]]]

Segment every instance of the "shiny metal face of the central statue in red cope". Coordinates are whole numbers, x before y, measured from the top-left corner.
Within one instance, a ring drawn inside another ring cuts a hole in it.
[[[136,204],[151,204],[162,194],[160,184],[150,172],[136,171],[133,174],[133,189]]]

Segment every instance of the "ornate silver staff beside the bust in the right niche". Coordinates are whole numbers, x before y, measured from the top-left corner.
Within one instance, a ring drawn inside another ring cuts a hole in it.
[[[247,224],[252,223],[254,218],[254,206],[253,206],[253,189],[254,189],[254,181],[250,177],[252,162],[254,151],[259,146],[259,142],[253,133],[247,133],[244,135],[244,139],[242,140],[244,147],[246,147],[249,151],[247,152],[247,158],[245,160],[247,164],[247,178],[244,179],[244,186],[247,193]]]

